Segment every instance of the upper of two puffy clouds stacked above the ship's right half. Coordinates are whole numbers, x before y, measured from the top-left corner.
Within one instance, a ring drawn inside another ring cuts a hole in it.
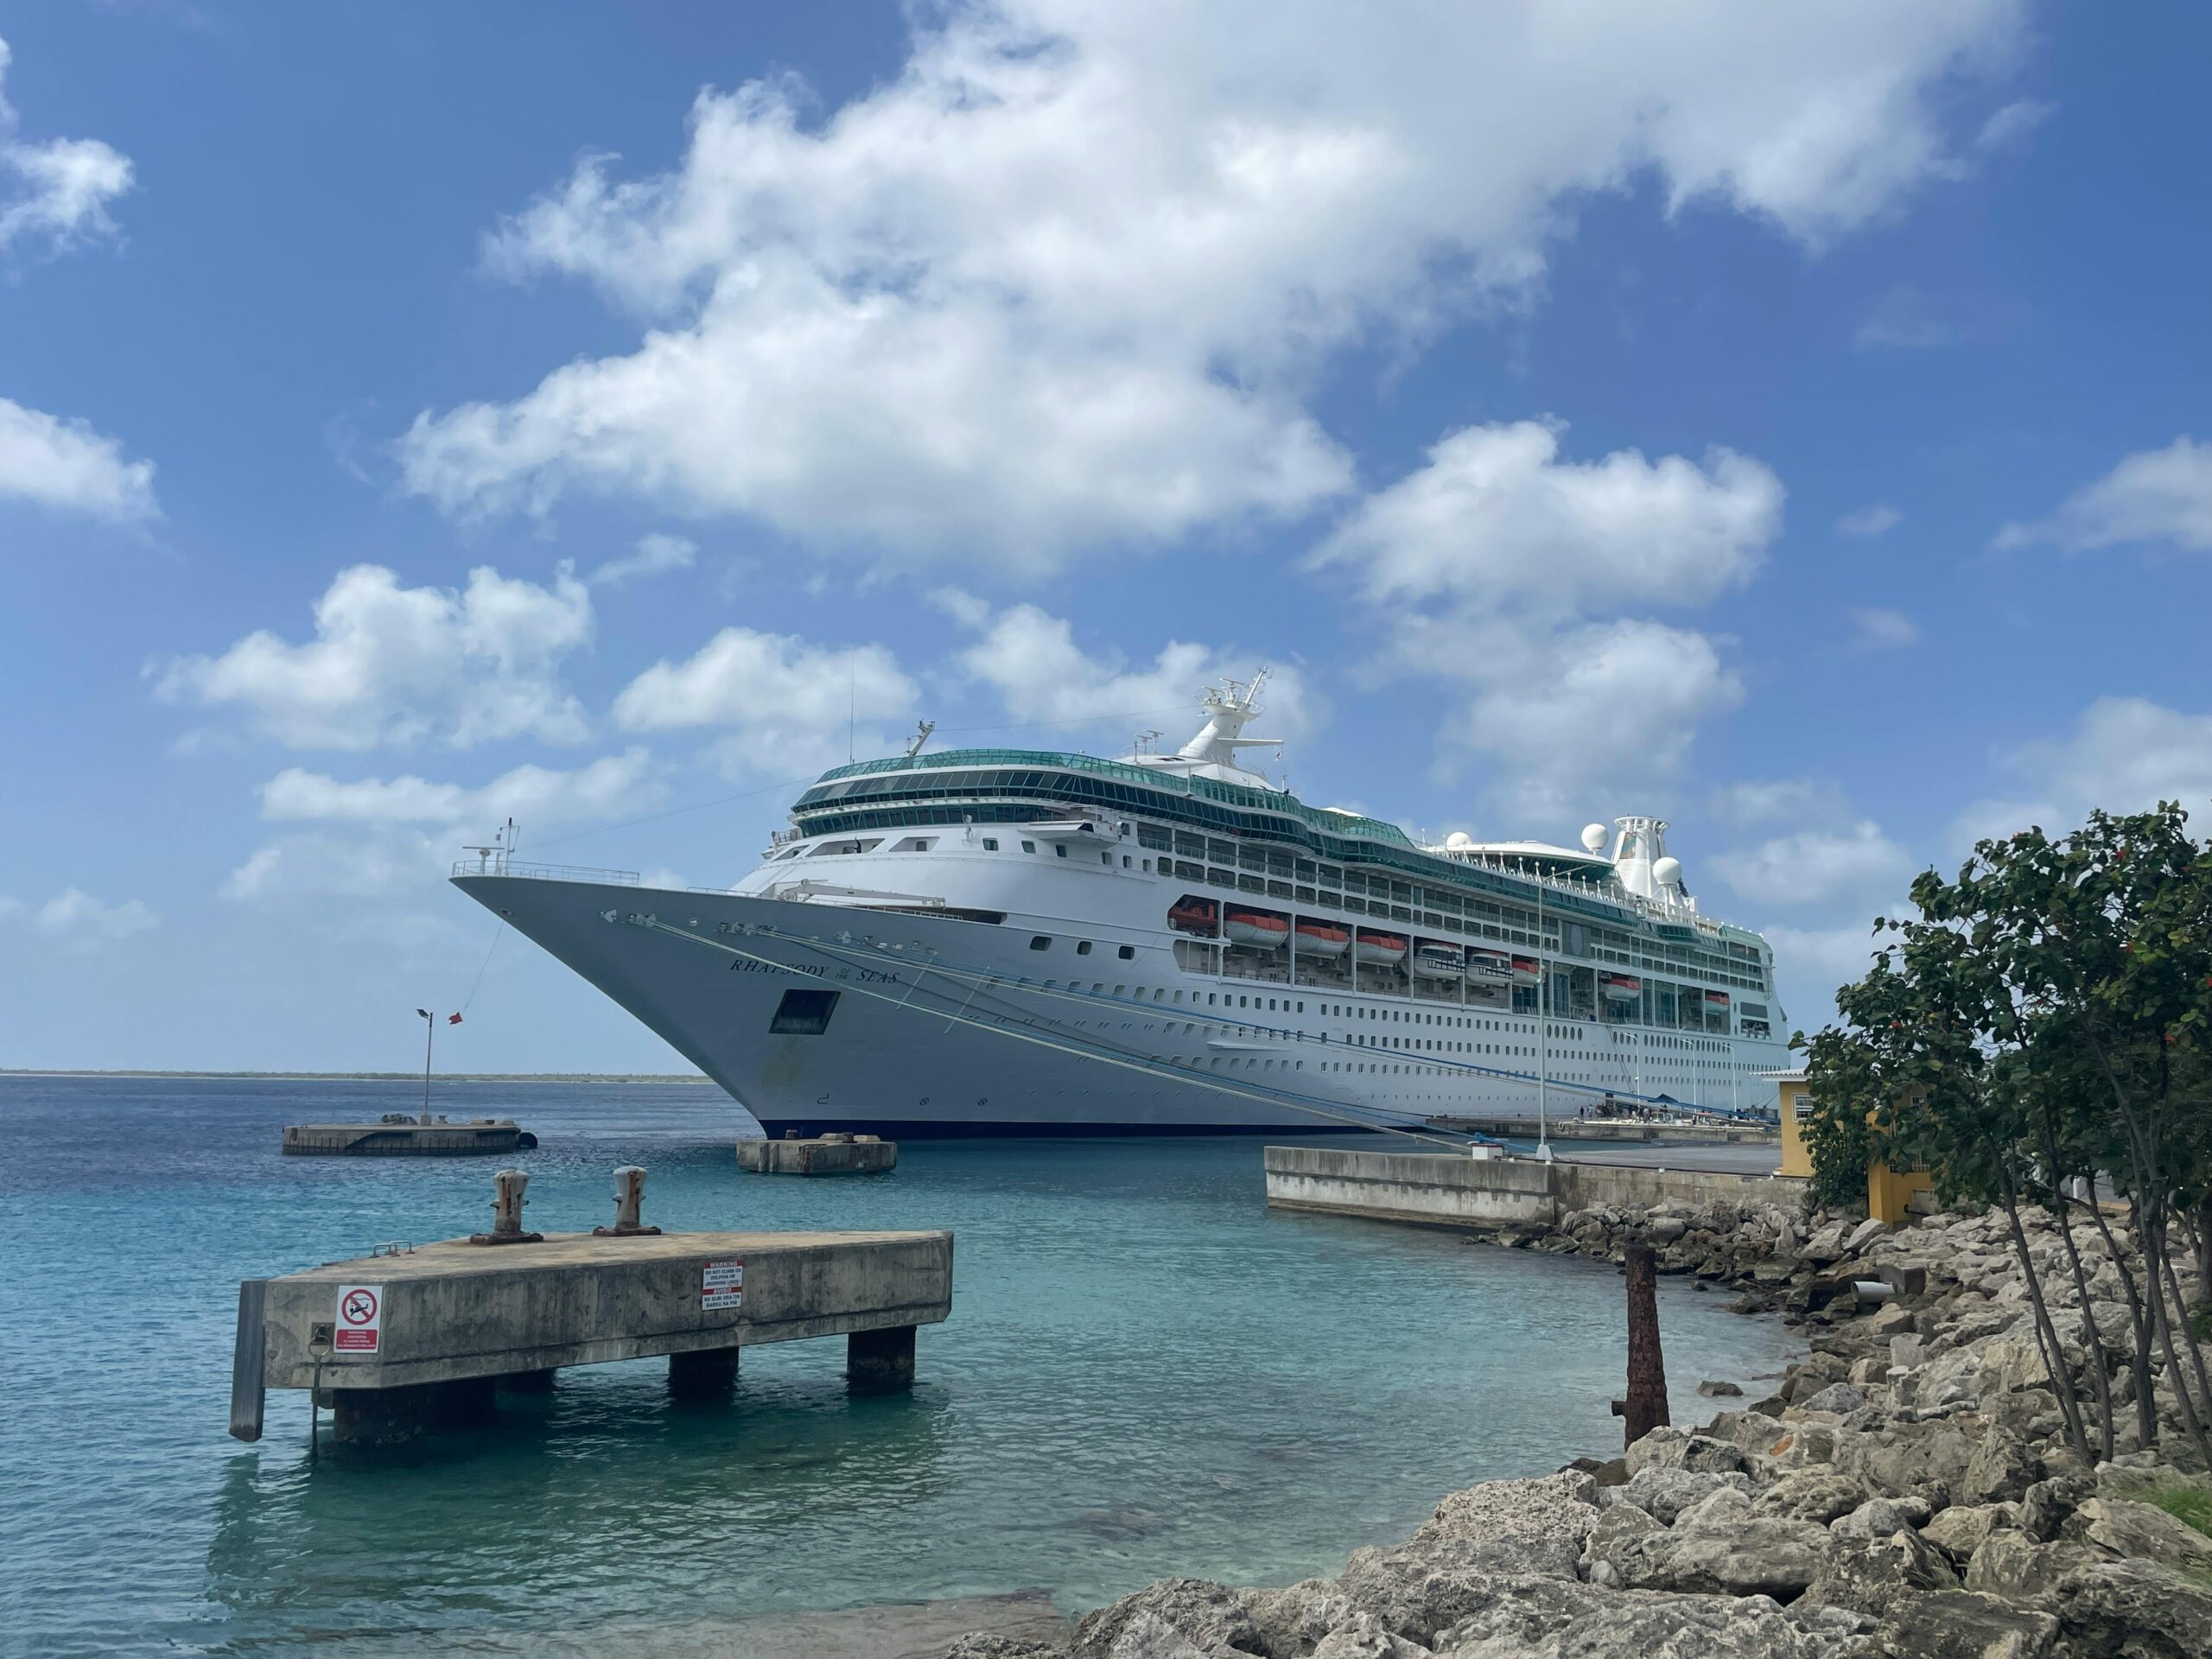
[[[1369,602],[1471,608],[1703,604],[1747,580],[1781,531],[1781,480],[1714,449],[1705,467],[1619,449],[1559,460],[1562,425],[1467,427],[1360,502],[1316,562],[1352,564]]]

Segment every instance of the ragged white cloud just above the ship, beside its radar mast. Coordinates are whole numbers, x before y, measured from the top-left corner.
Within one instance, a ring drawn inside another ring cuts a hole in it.
[[[938,602],[953,608],[964,626],[980,630],[975,644],[953,657],[956,672],[991,686],[1006,714],[1020,723],[1157,723],[1166,748],[1175,750],[1203,721],[1199,695],[1206,686],[1228,677],[1252,679],[1254,670],[1267,666],[1263,712],[1250,734],[1290,741],[1314,726],[1314,697],[1296,664],[1263,664],[1254,655],[1183,639],[1170,639],[1150,664],[1130,664],[1119,653],[1093,657],[1075,644],[1075,630],[1064,617],[1033,604],[991,615],[967,595],[940,593]],[[1110,743],[1119,745],[1135,730],[1110,732]]]

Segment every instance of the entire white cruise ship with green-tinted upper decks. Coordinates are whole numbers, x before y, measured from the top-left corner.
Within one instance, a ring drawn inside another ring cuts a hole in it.
[[[473,849],[453,885],[770,1135],[1223,1135],[1770,1108],[1767,942],[1666,823],[1420,845],[1239,759],[1265,670],[1172,754],[825,772],[728,889]],[[927,728],[925,728],[927,737]]]

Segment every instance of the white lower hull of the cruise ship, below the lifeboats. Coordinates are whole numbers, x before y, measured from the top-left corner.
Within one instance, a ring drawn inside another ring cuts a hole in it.
[[[458,874],[456,885],[659,1033],[770,1135],[1281,1135],[1378,1115],[1533,1124],[1540,1093],[1566,1117],[1595,1115],[1608,1091],[1752,1108],[1772,1102],[1754,1073],[1787,1064],[1783,1044],[1747,1037],[1588,1020],[1553,1020],[1546,1035],[1528,1013],[1486,1006],[1484,987],[1438,1000],[1192,973],[1164,925],[1175,883],[1117,867],[1088,872],[1082,925],[1042,907],[1004,914],[1004,883],[991,898],[1004,920],[768,896],[761,872],[741,891],[522,874]],[[1082,958],[1077,933],[1093,947]],[[1033,938],[1051,947],[1033,951]],[[1035,989],[1002,984],[1024,978]],[[792,989],[838,993],[818,1033],[770,1031]]]

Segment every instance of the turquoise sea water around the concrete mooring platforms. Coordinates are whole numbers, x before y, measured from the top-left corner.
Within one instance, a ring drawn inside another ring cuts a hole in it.
[[[484,1225],[493,1161],[285,1159],[285,1121],[403,1086],[0,1079],[0,1648],[511,1646],[1164,1573],[1290,1582],[1473,1480],[1619,1444],[1613,1270],[1270,1214],[1256,1141],[909,1144],[896,1175],[737,1175],[710,1088],[449,1084],[538,1130],[529,1219],[951,1228],[953,1316],[909,1398],[843,1343],[745,1354],[734,1407],[655,1363],[564,1371],[495,1429],[305,1460],[307,1400],[223,1433],[237,1281]],[[1677,1418],[1792,1347],[1661,1290]]]

